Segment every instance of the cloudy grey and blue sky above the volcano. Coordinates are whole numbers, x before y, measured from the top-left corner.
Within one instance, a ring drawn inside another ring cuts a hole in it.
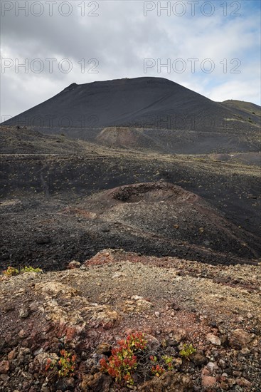
[[[1,120],[70,83],[140,76],[260,105],[260,0],[1,0]]]

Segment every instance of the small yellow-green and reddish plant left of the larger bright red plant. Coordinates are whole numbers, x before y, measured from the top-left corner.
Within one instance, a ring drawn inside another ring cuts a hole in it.
[[[60,359],[52,360],[48,359],[46,363],[46,371],[49,369],[56,370],[58,372],[58,377],[73,377],[75,375],[76,368],[76,356],[68,353],[68,351],[60,351]]]

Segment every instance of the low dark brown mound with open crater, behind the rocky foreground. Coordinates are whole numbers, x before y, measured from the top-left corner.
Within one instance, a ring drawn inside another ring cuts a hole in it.
[[[256,233],[164,181],[115,187],[74,202],[70,195],[16,197],[0,202],[0,218],[0,271],[26,264],[61,269],[70,259],[84,262],[109,247],[211,264],[256,264],[261,252]]]

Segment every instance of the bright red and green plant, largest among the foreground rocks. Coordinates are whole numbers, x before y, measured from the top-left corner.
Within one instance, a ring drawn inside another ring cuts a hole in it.
[[[118,347],[112,349],[112,355],[100,360],[102,371],[115,378],[119,384],[133,385],[133,375],[137,368],[137,354],[147,348],[144,334],[136,332],[128,335],[127,339],[118,342]]]

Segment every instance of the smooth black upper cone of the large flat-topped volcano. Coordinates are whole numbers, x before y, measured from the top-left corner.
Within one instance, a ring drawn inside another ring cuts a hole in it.
[[[234,118],[233,118],[234,115]],[[103,128],[136,126],[184,130],[220,130],[228,119],[236,128],[238,118],[233,108],[184,88],[164,78],[119,79],[72,85],[58,95],[4,125],[43,127]],[[247,129],[255,121],[240,121]]]

